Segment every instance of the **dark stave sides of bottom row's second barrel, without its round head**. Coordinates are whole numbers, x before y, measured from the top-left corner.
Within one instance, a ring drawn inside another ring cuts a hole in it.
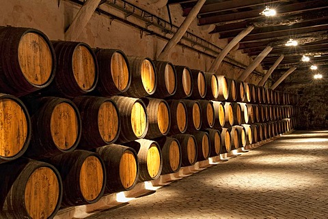
[[[74,156],[77,156],[77,158],[72,158]],[[102,188],[100,190],[100,194],[98,194],[96,199],[92,201],[84,198],[79,184],[81,166],[85,159],[89,156],[95,156],[98,158],[103,171]],[[106,168],[105,163],[102,161],[98,154],[91,151],[74,150],[67,154],[61,154],[49,158],[46,160],[46,162],[49,162],[55,166],[55,168],[59,171],[61,178],[63,179],[63,199],[61,202],[61,207],[71,207],[96,203],[104,194],[107,181],[107,175],[105,171]],[[66,169],[67,167],[70,167],[70,169]],[[76,187],[74,187],[74,185]]]

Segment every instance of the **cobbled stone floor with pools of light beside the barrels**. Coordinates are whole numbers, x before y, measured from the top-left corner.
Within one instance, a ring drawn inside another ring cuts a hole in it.
[[[293,132],[100,218],[328,218],[328,130]]]

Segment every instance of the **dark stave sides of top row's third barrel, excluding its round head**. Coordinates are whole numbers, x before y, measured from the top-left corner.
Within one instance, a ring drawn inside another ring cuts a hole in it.
[[[99,80],[96,89],[101,93],[102,96],[108,98],[126,92],[131,85],[131,70],[130,63],[128,62],[128,57],[126,57],[124,52],[119,49],[96,48],[94,49],[94,53],[96,55],[99,68]],[[111,61],[109,61],[108,58],[111,58],[115,53],[120,53],[120,55],[124,57],[128,67],[128,83],[126,88],[123,90],[120,90],[115,86],[113,78],[109,77],[107,73],[111,70]],[[105,72],[107,74],[105,74]]]

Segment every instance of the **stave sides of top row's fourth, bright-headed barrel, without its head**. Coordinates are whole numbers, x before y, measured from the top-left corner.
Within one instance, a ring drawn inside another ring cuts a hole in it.
[[[154,88],[152,91],[148,92],[143,87],[143,81],[141,78],[141,65],[143,61],[149,61],[152,65],[152,69],[154,70]],[[149,57],[134,57],[128,56],[128,63],[130,63],[130,71],[131,71],[131,85],[126,89],[122,96],[131,97],[131,98],[144,98],[146,96],[152,95],[156,91],[157,87],[157,75],[156,68],[152,59]]]

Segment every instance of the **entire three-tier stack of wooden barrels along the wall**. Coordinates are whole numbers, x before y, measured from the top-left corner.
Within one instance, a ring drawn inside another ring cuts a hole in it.
[[[297,96],[0,27],[0,216],[52,218],[296,126]]]

